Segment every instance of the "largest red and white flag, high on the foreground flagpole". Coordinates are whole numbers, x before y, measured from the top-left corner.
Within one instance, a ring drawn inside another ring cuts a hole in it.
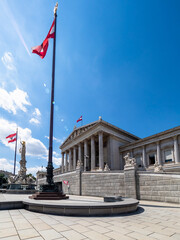
[[[50,38],[54,38],[54,35],[55,35],[54,24],[55,24],[55,19],[54,19],[54,21],[53,21],[53,23],[51,25],[51,28],[50,28],[50,30],[48,32],[47,37],[45,38],[43,43],[41,45],[39,45],[39,46],[31,48],[32,49],[32,53],[36,53],[42,59],[46,56],[46,52],[47,52],[47,49],[48,49],[48,46],[49,46],[49,39]]]

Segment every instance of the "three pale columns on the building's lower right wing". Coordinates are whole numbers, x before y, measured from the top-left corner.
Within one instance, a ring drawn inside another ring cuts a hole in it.
[[[174,140],[174,158],[175,158],[175,163],[180,163],[178,136],[174,136],[173,140]],[[156,144],[157,144],[157,162],[158,162],[159,165],[162,165],[160,141],[157,141]],[[144,167],[147,167],[145,146],[143,146],[143,149],[142,149],[142,161],[143,161]]]

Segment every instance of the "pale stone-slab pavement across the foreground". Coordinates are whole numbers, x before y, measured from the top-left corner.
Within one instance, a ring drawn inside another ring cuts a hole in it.
[[[0,211],[2,240],[180,240],[180,205],[140,201],[136,214],[114,217],[66,217]]]

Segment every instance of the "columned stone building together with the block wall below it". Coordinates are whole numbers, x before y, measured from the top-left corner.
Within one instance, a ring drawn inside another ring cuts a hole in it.
[[[60,146],[54,181],[66,194],[180,203],[179,145],[180,126],[140,139],[100,117],[75,127]]]

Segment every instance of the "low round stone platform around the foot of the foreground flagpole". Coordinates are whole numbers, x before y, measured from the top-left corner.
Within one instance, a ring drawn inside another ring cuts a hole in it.
[[[103,202],[102,200],[67,199],[56,201],[23,201],[25,209],[29,211],[65,215],[65,216],[107,216],[134,212],[138,207],[138,200],[122,198],[120,202]]]

